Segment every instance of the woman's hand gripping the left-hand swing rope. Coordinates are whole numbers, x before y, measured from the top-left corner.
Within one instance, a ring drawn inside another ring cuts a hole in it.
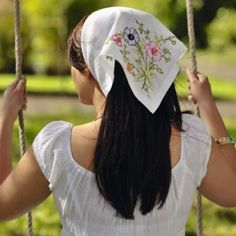
[[[4,92],[1,117],[14,123],[20,110],[26,109],[26,80],[20,79],[11,83]]]

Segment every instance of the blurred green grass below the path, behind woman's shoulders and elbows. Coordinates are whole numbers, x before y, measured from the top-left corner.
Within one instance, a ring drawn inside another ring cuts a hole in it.
[[[35,135],[40,129],[53,120],[67,120],[74,124],[88,122],[93,117],[92,115],[83,113],[67,113],[57,115],[38,114],[37,116],[25,117],[25,128],[27,143],[30,145]],[[236,137],[236,123],[233,118],[224,118],[229,133]],[[17,124],[14,129],[14,161],[17,162],[19,151],[17,140]],[[186,235],[196,235],[196,204],[190,213],[188,223],[186,225]],[[53,198],[50,196],[47,201],[42,203],[32,211],[35,236],[58,236],[60,234],[61,225],[59,215],[53,203]],[[235,236],[236,235],[236,212],[235,210],[224,209],[215,204],[203,200],[203,226],[205,236]],[[26,235],[26,220],[21,217],[6,223],[0,223],[0,235],[4,236],[23,236]]]

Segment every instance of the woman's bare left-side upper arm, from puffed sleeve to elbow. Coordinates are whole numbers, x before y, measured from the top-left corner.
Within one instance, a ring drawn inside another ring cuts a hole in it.
[[[0,185],[0,221],[12,220],[43,202],[51,193],[32,148]]]

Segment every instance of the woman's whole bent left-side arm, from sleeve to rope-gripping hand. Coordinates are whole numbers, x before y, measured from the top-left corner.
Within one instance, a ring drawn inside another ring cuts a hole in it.
[[[48,181],[32,148],[12,170],[12,130],[19,110],[26,107],[25,81],[5,91],[0,113],[0,220],[13,219],[38,205],[50,194]]]

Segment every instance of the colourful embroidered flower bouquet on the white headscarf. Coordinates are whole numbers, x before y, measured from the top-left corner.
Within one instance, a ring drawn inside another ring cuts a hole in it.
[[[153,87],[153,81],[158,74],[164,71],[159,66],[160,62],[169,63],[171,52],[165,47],[167,42],[176,44],[175,36],[164,37],[152,35],[144,24],[136,20],[136,28],[125,27],[123,31],[106,39],[106,44],[115,43],[120,49],[126,70],[133,78],[142,83],[142,89],[148,94]],[[136,55],[135,59],[130,55]]]

